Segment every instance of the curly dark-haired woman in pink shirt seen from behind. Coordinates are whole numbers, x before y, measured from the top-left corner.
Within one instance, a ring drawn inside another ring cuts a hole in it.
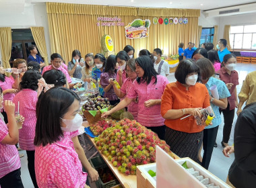
[[[18,102],[20,102],[20,115],[25,118],[22,129],[19,130],[19,144],[22,150],[26,150],[28,156],[28,171],[34,184],[36,184],[36,175],[34,173],[34,135],[36,130],[36,103],[38,80],[42,76],[38,71],[28,70],[20,82],[21,91],[15,95],[15,111],[18,111]]]

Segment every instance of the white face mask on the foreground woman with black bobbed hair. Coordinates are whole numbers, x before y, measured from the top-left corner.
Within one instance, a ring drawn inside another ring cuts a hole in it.
[[[61,130],[65,131],[65,132],[74,132],[74,131],[78,130],[80,128],[80,126],[82,126],[82,123],[83,123],[83,118],[78,113],[75,115],[75,118],[73,118],[73,120],[65,120],[62,118],[61,118],[61,120],[66,125],[65,128],[61,127]]]

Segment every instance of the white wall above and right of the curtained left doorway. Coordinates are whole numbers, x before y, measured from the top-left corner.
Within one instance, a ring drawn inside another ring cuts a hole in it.
[[[11,7],[7,7],[7,9],[1,7],[0,17],[0,27],[11,27],[12,29],[30,28],[32,26],[44,27],[47,54],[48,56],[51,56],[46,3],[36,3],[36,5],[25,4],[24,7],[22,7],[20,4],[15,7],[15,4],[13,4]]]

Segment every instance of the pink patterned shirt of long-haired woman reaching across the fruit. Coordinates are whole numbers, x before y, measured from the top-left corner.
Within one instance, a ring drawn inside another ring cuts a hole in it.
[[[128,98],[136,98],[138,96],[138,115],[137,121],[146,127],[157,127],[164,125],[164,118],[160,113],[161,105],[154,105],[152,107],[146,107],[145,101],[150,99],[161,99],[164,88],[168,84],[168,79],[161,75],[157,75],[157,83],[154,84],[156,79],[152,78],[149,85],[147,83],[137,83],[137,80],[133,82],[131,89],[127,94]]]

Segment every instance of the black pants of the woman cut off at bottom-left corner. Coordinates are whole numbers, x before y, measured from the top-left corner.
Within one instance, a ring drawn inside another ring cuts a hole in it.
[[[0,179],[1,188],[24,188],[20,169],[12,171]]]

